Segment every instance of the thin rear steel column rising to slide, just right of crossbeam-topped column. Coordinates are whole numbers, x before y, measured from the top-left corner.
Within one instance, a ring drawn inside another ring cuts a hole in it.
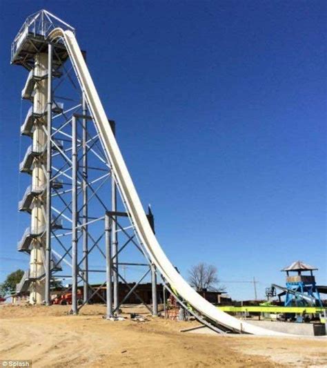
[[[82,109],[83,109],[83,119],[82,119],[82,149],[83,149],[83,227],[82,227],[82,238],[83,238],[83,302],[88,301],[88,149],[86,146],[87,135],[86,131],[88,128],[88,120],[85,118],[88,109],[86,106],[86,96],[83,93]]]

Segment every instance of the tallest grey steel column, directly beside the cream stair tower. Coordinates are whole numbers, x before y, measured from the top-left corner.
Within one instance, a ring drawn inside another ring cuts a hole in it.
[[[52,126],[52,45],[48,44],[48,103],[47,103],[47,159],[46,159],[46,305],[50,305],[51,280],[51,126]]]

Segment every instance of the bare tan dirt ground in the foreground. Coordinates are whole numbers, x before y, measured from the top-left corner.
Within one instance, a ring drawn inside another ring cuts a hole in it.
[[[42,368],[327,367],[323,338],[211,336],[180,332],[195,321],[112,322],[101,318],[102,305],[83,307],[79,316],[69,309],[0,306],[0,359],[28,359]]]

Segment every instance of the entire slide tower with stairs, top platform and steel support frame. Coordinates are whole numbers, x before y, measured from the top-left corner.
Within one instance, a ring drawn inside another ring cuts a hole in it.
[[[50,305],[53,285],[70,280],[74,314],[97,294],[107,304],[106,317],[112,318],[133,293],[157,316],[157,270],[121,200],[68,52],[62,41],[48,39],[58,26],[75,33],[68,23],[40,10],[26,19],[12,43],[11,64],[28,70],[21,98],[32,104],[21,124],[21,135],[32,143],[19,165],[31,178],[19,202],[19,211],[30,215],[30,226],[17,244],[18,251],[30,256],[30,268],[17,293],[30,291],[30,303]],[[108,124],[115,134],[115,121],[108,119]],[[150,209],[148,220],[154,231]],[[141,270],[133,287],[122,275],[123,267]],[[137,294],[146,278],[152,282],[151,306]],[[92,287],[99,279],[100,286]],[[119,282],[129,289],[122,300]],[[99,293],[104,286],[106,298]]]

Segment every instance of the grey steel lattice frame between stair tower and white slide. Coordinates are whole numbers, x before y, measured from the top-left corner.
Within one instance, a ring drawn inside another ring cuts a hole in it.
[[[97,294],[107,303],[107,318],[111,318],[132,293],[143,302],[136,289],[150,274],[152,309],[145,302],[143,304],[157,315],[155,267],[139,242],[125,204],[119,201],[119,186],[112,175],[110,160],[103,150],[92,116],[88,115],[87,102],[74,69],[69,65],[69,59],[60,63],[61,44],[50,43],[46,39],[47,30],[54,28],[58,19],[52,18],[52,14],[45,10],[39,13],[41,16],[37,19],[44,31],[43,43],[47,46],[41,44],[35,52],[42,50],[48,53],[47,124],[41,124],[47,142],[46,150],[40,156],[43,157],[41,168],[46,176],[46,191],[40,196],[46,228],[38,234],[45,248],[45,257],[44,272],[37,278],[46,284],[45,302],[51,304],[50,289],[55,280],[71,279],[68,289],[72,289],[72,313],[78,313]],[[20,65],[30,70],[32,63],[28,60],[25,57]],[[57,113],[54,112],[56,106]],[[37,124],[37,120],[34,124]],[[115,131],[115,122],[110,121],[110,125]],[[117,211],[117,206],[122,211]],[[136,262],[135,252],[130,255],[131,262],[119,262],[126,249],[132,248],[146,262]],[[94,266],[99,258],[103,260],[103,269]],[[120,267],[126,266],[146,269],[133,287],[121,275]],[[94,288],[91,284],[92,275],[99,273],[105,273],[106,278],[99,287]],[[129,289],[123,300],[119,300],[119,280]],[[79,284],[83,284],[83,300],[78,305]],[[100,291],[105,285],[109,292],[103,298]]]

